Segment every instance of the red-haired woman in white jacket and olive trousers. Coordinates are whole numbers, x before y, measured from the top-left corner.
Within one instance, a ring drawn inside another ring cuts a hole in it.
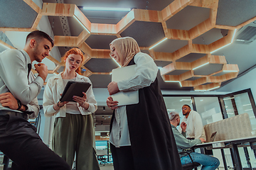
[[[76,154],[77,170],[100,170],[95,154],[95,127],[92,113],[97,110],[97,102],[92,86],[83,96],[73,96],[75,102],[60,102],[61,94],[68,81],[91,81],[80,75],[83,61],[82,51],[74,47],[65,53],[64,72],[50,77],[43,94],[43,111],[46,117],[54,116],[53,151],[72,167]]]

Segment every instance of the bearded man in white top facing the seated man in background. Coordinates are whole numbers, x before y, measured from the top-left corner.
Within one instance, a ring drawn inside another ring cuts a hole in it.
[[[182,106],[182,113],[184,118],[181,123],[186,123],[186,137],[189,140],[203,138],[206,140],[206,132],[203,129],[202,118],[196,111],[191,111],[191,107],[188,105]],[[178,132],[181,132],[181,127],[178,128]]]

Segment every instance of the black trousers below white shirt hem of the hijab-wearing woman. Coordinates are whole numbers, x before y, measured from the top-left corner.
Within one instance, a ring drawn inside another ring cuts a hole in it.
[[[132,147],[114,147],[110,144],[114,170],[134,170]]]

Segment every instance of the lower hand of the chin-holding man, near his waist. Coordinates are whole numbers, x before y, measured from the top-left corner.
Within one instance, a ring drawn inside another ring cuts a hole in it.
[[[18,102],[10,92],[0,94],[0,103],[2,106],[11,108],[13,110],[18,109]]]

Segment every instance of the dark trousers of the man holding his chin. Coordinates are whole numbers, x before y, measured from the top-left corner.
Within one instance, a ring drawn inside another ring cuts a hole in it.
[[[70,170],[70,166],[49,149],[24,118],[0,115],[0,150],[13,162],[12,170]]]

